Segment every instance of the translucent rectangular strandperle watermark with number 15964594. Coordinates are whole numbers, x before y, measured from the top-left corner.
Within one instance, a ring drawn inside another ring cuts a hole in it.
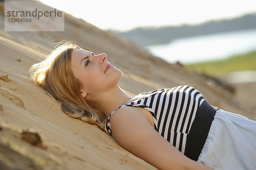
[[[64,12],[36,0],[5,0],[5,31],[64,31]]]

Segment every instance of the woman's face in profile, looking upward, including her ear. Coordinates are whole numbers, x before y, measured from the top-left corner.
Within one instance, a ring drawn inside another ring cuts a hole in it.
[[[95,55],[84,49],[74,49],[71,54],[71,68],[73,74],[82,82],[83,97],[95,96],[115,88],[122,78],[122,71],[111,66],[107,55]]]

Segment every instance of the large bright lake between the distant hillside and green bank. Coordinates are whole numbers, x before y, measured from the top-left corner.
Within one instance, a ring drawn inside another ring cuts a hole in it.
[[[256,50],[256,29],[178,38],[146,47],[167,62],[182,64],[218,60]]]

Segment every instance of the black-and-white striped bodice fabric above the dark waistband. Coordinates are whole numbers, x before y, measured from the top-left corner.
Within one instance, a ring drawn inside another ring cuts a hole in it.
[[[140,99],[122,105],[119,108],[133,106],[148,110],[154,119],[154,129],[157,130],[164,139],[180,150],[181,153],[186,155],[186,147],[192,145],[191,142],[187,144],[187,137],[192,128],[193,121],[195,120],[201,104],[204,101],[207,102],[202,94],[195,88],[184,85],[144,92],[141,93],[141,95],[142,97]],[[116,110],[119,108],[116,108]],[[107,123],[108,131],[112,136],[110,118],[115,111],[108,116]],[[213,118],[213,116],[211,117]],[[201,118],[199,119],[201,120]],[[193,132],[193,134],[194,133],[195,132]],[[206,135],[207,134],[208,133],[206,133]],[[205,140],[203,140],[203,144],[204,142]],[[199,153],[201,152],[201,147],[199,147]]]

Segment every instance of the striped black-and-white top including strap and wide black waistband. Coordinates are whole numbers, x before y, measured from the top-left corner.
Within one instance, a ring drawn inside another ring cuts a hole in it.
[[[187,85],[143,92],[140,95],[141,98],[119,108],[145,108],[153,116],[154,129],[164,139],[190,159],[198,160],[218,108],[209,105],[202,94]],[[112,136],[110,119],[115,111],[108,116],[107,123]]]

